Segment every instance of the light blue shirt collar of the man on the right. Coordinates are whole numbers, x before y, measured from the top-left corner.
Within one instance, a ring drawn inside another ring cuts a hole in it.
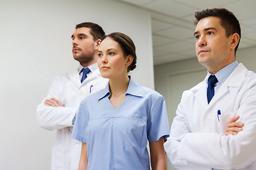
[[[215,74],[215,77],[218,79],[218,83],[223,84],[223,82],[226,79],[228,79],[230,74],[234,71],[235,67],[237,66],[238,66],[238,62],[235,60],[235,62],[232,62],[228,64],[226,67],[224,67],[223,69],[220,69],[220,71],[218,71]],[[210,75],[211,74],[208,72],[207,79],[210,77]]]

